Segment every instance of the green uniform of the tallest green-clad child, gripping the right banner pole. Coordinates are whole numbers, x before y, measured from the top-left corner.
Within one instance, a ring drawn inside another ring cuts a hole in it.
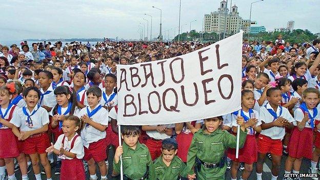
[[[241,130],[239,148],[243,147],[246,136],[247,131]],[[188,151],[186,173],[194,174],[192,167],[195,165],[196,157],[205,163],[216,164],[223,159],[225,150],[228,148],[236,148],[236,136],[221,129],[217,129],[211,134],[206,134],[204,128],[198,130],[192,138]],[[201,164],[200,171],[197,173],[197,179],[225,179],[226,169],[226,165],[223,168],[206,168]]]

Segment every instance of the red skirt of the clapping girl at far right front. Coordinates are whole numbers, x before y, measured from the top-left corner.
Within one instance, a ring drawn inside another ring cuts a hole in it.
[[[311,128],[304,128],[302,131],[295,126],[293,128],[287,151],[289,156],[294,158],[306,157],[312,159],[313,131]]]

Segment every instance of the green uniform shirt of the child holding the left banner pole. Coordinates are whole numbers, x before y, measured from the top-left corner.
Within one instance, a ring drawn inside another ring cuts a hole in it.
[[[149,167],[149,180],[155,179],[154,167],[148,148],[137,142],[135,150],[131,149],[126,143],[123,143],[123,173],[131,179],[141,179]],[[114,171],[120,173],[121,163],[115,164],[113,161]]]

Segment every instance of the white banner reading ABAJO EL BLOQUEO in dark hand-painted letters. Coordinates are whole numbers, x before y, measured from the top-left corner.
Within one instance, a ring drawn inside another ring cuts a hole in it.
[[[241,109],[242,36],[169,59],[118,65],[117,123],[182,123]]]

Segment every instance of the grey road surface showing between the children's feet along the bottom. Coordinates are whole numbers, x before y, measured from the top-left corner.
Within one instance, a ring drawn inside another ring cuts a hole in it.
[[[112,153],[109,153],[109,154],[112,154]],[[109,156],[109,162],[112,162],[112,159],[113,159],[113,156]],[[278,179],[283,179],[283,174],[284,174],[284,167],[285,167],[285,161],[286,161],[286,156],[283,156],[282,158],[282,163],[281,163],[281,172],[279,174],[279,177]],[[112,163],[109,163],[110,166],[112,166]],[[301,166],[301,173],[307,173],[308,172],[308,169],[310,167],[310,161],[307,160],[307,159],[304,159],[303,162],[302,162],[302,166]],[[253,168],[255,168],[255,166],[253,166]],[[97,170],[98,172],[98,170]],[[112,172],[112,167],[109,168],[109,173],[108,173],[108,179],[114,179],[114,180],[117,180],[117,179],[120,179],[120,178],[113,178],[111,177],[111,172]],[[255,174],[255,169],[253,169],[252,171],[253,173],[251,173],[250,177],[249,177],[249,180],[255,180],[256,179],[256,174]],[[54,172],[52,171],[52,174]],[[16,176],[17,176],[17,179],[21,179],[21,173],[20,171],[17,171],[16,172]],[[98,175],[99,176],[99,175]],[[241,172],[238,172],[238,179],[240,179],[240,176],[241,176]],[[29,173],[29,179],[30,180],[34,180],[35,177],[34,177],[34,174],[33,174],[33,171],[31,171]],[[42,179],[46,179],[46,176],[45,175],[42,175]],[[52,175],[52,179],[53,180],[57,180],[59,179],[59,176],[58,175]],[[89,179],[89,177],[88,177]],[[230,172],[227,171],[226,172],[226,179],[230,179]],[[264,173],[263,173],[263,177],[262,179],[268,179],[270,180],[271,179],[271,161],[266,158],[266,163],[265,163],[265,166],[264,166]],[[310,179],[310,178],[305,178],[305,179]],[[170,180],[170,179],[168,179]]]

